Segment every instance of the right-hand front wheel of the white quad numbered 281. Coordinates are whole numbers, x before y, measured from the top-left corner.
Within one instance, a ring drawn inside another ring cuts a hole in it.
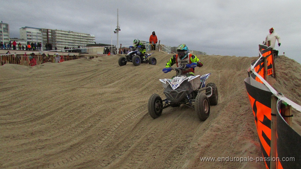
[[[197,97],[195,98],[194,109],[195,112],[197,113],[197,117],[201,121],[205,121],[209,117],[210,105],[206,94],[204,93],[197,94]]]

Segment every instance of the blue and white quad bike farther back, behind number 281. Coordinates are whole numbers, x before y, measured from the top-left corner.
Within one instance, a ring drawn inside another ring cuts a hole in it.
[[[136,47],[130,46],[130,48],[132,48],[133,50],[131,52],[129,52],[126,55],[126,57],[122,56],[119,58],[119,60],[118,60],[119,66],[124,66],[124,65],[126,65],[127,62],[132,62],[134,66],[139,66],[141,63],[148,63],[150,65],[157,64],[156,58],[150,57],[151,54],[153,54],[153,53],[151,53],[151,54],[145,53],[145,56],[143,57]]]

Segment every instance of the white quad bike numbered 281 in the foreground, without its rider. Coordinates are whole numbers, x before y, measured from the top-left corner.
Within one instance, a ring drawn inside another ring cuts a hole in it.
[[[210,105],[218,103],[216,85],[214,83],[205,84],[211,73],[187,77],[182,74],[186,68],[171,68],[176,71],[176,76],[172,79],[160,79],[165,88],[163,93],[166,99],[162,100],[158,94],[153,94],[149,98],[147,108],[152,118],[159,117],[162,110],[169,106],[178,107],[181,104],[194,109],[201,121],[205,121],[209,117]]]

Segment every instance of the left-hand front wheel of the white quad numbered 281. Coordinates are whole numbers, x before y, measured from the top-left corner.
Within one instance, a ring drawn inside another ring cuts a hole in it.
[[[162,114],[162,107],[161,97],[158,94],[151,95],[147,103],[148,114],[152,118],[157,118]]]

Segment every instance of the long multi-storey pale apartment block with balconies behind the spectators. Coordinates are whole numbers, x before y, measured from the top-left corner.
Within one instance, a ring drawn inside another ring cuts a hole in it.
[[[44,51],[46,43],[52,45],[52,50],[54,50],[55,46],[58,50],[61,50],[65,47],[71,49],[95,43],[95,35],[92,34],[27,26],[20,28],[20,38],[27,40],[27,43],[41,42],[42,50],[44,49]]]

